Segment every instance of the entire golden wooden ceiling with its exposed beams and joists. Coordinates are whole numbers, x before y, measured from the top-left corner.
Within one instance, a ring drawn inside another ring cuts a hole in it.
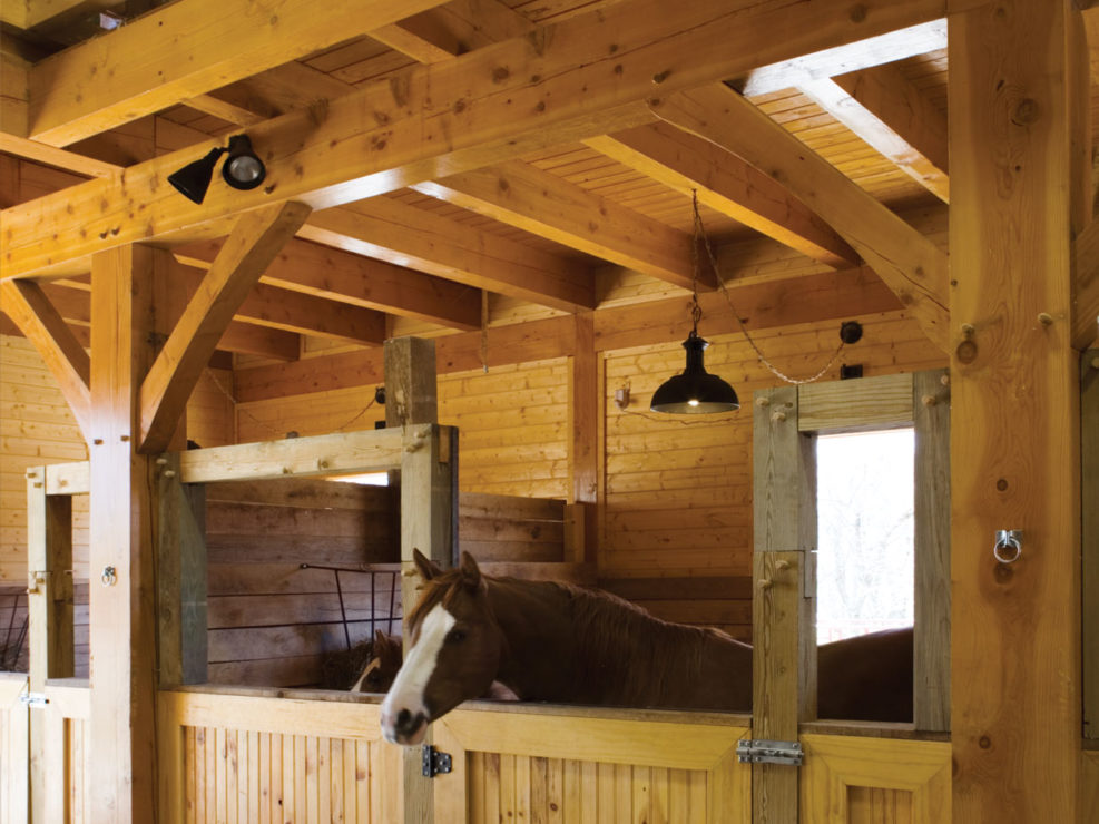
[[[0,277],[37,291],[6,287],[3,307],[71,353],[87,342],[94,253],[169,249],[193,293],[242,214],[300,202],[307,217],[236,288],[217,349],[291,361],[392,334],[475,336],[485,306],[492,326],[641,303],[681,314],[697,190],[746,303],[773,310],[850,271],[840,311],[879,311],[881,278],[886,308],[941,343],[945,254],[907,216],[949,203],[943,11],[6,1]],[[102,13],[122,24],[99,29]],[[242,133],[262,186],[215,176],[194,204],[167,184]],[[792,263],[754,277],[744,263],[761,255]],[[708,267],[698,285],[714,291]]]

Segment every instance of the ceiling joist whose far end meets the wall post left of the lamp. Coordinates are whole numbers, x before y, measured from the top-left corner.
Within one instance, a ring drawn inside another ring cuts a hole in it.
[[[576,312],[596,305],[595,278],[575,262],[389,197],[314,213],[298,234],[542,306]]]

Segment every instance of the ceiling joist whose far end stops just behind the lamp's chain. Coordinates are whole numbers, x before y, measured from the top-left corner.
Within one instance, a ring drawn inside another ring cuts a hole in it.
[[[520,160],[453,175],[414,189],[684,288],[691,236]],[[710,273],[699,278],[707,288]]]

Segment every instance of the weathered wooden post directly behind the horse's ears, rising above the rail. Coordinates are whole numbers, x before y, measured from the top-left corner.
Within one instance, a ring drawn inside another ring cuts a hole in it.
[[[442,567],[454,557],[458,512],[458,432],[440,428],[435,343],[399,337],[385,343],[385,426],[404,430],[401,461],[401,595],[405,617],[416,602],[413,549]],[[409,638],[408,631],[404,634]],[[431,744],[428,730],[425,744]],[[434,795],[421,774],[420,749],[404,751],[404,822],[431,824]]]

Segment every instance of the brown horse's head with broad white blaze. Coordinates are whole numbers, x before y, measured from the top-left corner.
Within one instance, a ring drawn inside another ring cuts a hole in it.
[[[413,558],[423,591],[409,615],[411,644],[381,717],[385,739],[405,746],[423,740],[428,724],[489,690],[503,646],[488,585],[469,552],[445,571],[419,550]]]

